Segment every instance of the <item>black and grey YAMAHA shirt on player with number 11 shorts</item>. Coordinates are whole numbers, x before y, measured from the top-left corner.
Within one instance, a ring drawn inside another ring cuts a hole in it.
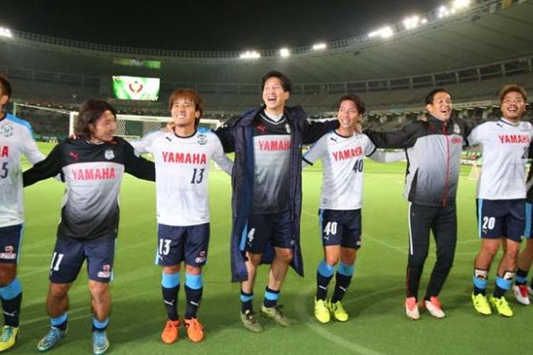
[[[119,137],[91,144],[82,139],[59,143],[45,160],[23,173],[24,186],[61,173],[63,197],[58,237],[94,240],[116,238],[119,227],[119,190],[124,172],[155,180],[154,163],[139,158]]]

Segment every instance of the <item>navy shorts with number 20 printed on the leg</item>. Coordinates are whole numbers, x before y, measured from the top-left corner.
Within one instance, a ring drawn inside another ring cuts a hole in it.
[[[476,200],[480,238],[504,237],[521,241],[526,222],[526,203],[517,200]]]

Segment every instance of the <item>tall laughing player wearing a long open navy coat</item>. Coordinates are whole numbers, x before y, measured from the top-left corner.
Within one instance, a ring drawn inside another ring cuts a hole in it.
[[[272,70],[262,77],[264,105],[217,129],[232,171],[232,281],[241,282],[241,320],[252,332],[263,327],[252,299],[257,267],[270,263],[262,313],[286,327],[278,299],[289,264],[303,275],[300,249],[301,145],[335,129],[338,121],[311,123],[301,107],[286,107],[291,80]]]

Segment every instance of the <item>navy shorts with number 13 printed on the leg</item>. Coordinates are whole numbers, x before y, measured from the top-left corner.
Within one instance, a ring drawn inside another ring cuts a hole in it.
[[[203,266],[208,260],[209,223],[196,226],[157,226],[156,264],[175,266],[185,261]]]

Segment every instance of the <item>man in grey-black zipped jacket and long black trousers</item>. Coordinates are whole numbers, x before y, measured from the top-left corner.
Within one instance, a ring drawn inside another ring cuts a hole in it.
[[[416,305],[418,300],[430,229],[436,241],[437,260],[424,299],[436,301],[433,303],[440,310],[437,296],[453,264],[456,248],[456,192],[463,141],[469,133],[463,120],[451,119],[451,97],[445,89],[434,89],[427,95],[426,109],[429,111],[426,121],[414,121],[399,131],[364,131],[377,148],[405,148],[407,153],[404,190],[409,201],[406,310],[409,301]],[[442,310],[438,315],[431,314],[444,317]],[[418,307],[415,313],[407,312],[407,315],[418,319]]]

